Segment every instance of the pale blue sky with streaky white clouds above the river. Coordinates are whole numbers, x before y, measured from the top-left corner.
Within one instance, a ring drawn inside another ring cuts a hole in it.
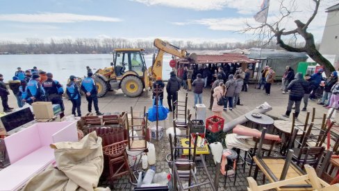
[[[53,38],[123,37],[128,39],[184,39],[195,42],[245,42],[251,34],[236,32],[253,15],[262,0],[1,0],[0,39],[23,41]],[[273,21],[280,0],[271,0]],[[296,0],[297,12],[281,27],[293,28],[295,18],[306,22],[314,8],[311,0]],[[309,27],[322,39],[325,8],[338,3],[325,0]],[[290,0],[286,0],[290,6]]]

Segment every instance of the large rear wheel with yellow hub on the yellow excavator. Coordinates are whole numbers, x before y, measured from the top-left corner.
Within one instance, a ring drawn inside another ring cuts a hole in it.
[[[122,92],[131,98],[140,96],[144,89],[141,79],[134,75],[129,75],[122,79],[121,87]]]

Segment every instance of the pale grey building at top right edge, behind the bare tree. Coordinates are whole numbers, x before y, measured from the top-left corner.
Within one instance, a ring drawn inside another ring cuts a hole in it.
[[[339,3],[326,9],[327,19],[320,44],[320,53],[336,55],[333,66],[339,68]]]

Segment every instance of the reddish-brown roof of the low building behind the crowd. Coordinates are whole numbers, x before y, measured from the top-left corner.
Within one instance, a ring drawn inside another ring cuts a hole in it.
[[[180,59],[180,63],[188,64],[188,60]],[[255,63],[255,60],[249,59],[246,55],[225,53],[222,55],[197,55],[196,64],[210,64],[210,63]]]

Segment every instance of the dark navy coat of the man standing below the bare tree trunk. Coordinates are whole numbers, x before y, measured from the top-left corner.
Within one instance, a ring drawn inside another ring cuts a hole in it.
[[[308,88],[308,83],[302,77],[302,73],[297,73],[295,75],[295,80],[292,80],[290,84],[288,84],[287,89],[290,90],[290,96],[304,97],[305,90]]]

